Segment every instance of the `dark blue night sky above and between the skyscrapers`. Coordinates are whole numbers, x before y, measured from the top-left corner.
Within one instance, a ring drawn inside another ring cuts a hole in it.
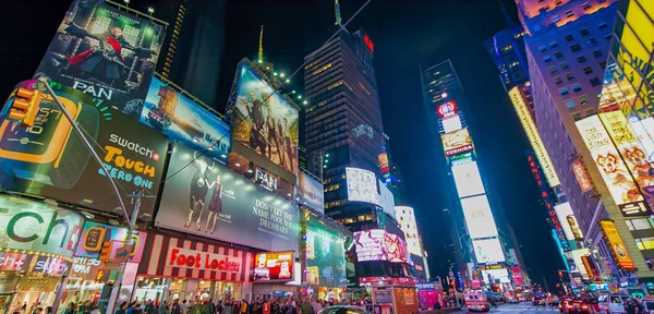
[[[147,5],[157,8],[161,0],[131,2],[131,7],[145,10]],[[364,2],[341,0],[343,23]],[[504,2],[517,23],[513,1]],[[0,22],[5,38],[0,48],[2,95],[9,95],[15,83],[34,73],[69,1],[23,0],[5,5],[11,14]],[[15,12],[29,12],[32,16]],[[225,29],[226,40],[218,100],[214,104],[219,110],[227,102],[237,63],[243,57],[256,58],[259,25],[266,27],[265,58],[287,73],[298,69],[305,55],[336,32],[330,0],[229,1],[223,19],[213,19],[217,20],[217,27]],[[22,33],[16,33],[16,25]],[[504,213],[496,213],[496,219],[507,219],[516,230],[532,280],[543,283],[545,277],[554,288],[556,270],[564,266],[528,169],[523,152],[529,144],[483,46],[483,40],[508,26],[495,0],[373,0],[348,29],[363,27],[375,41],[374,65],[384,129],[390,136],[393,161],[404,174],[409,203],[415,207],[432,276],[446,276],[450,256],[444,246],[451,240],[443,214],[443,208],[448,207],[447,198],[439,193],[445,189],[439,186],[437,177],[445,176],[445,161],[427,133],[419,64],[428,68],[451,59],[472,107],[465,114],[482,174],[504,208]],[[302,71],[299,74],[294,82],[302,80]]]

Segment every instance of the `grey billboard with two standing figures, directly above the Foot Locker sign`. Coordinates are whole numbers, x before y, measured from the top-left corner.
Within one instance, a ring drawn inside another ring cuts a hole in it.
[[[265,251],[298,251],[298,207],[251,180],[175,143],[158,227]]]

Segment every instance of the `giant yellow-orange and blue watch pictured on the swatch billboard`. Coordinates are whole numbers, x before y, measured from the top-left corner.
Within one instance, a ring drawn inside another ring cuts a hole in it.
[[[77,183],[90,152],[74,132],[52,95],[41,99],[34,125],[21,126],[7,119],[15,93],[8,99],[0,119],[0,169],[7,174],[69,190]],[[57,96],[86,133],[97,138],[99,113],[78,99]],[[73,97],[71,97],[73,98]]]

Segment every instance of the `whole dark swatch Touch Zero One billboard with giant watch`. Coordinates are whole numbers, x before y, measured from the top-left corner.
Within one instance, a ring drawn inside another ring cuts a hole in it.
[[[32,87],[37,86],[36,81],[28,82]],[[106,104],[98,98],[59,84],[52,87],[119,184],[125,206],[130,206],[130,195],[138,190],[146,196],[156,196],[168,140],[125,114],[106,110]],[[8,120],[10,108],[5,105],[0,117],[0,183],[5,190],[122,214],[120,209],[116,212],[120,202],[105,171],[49,94],[32,128]],[[143,197],[138,216],[148,220],[154,207],[155,197]],[[132,208],[126,209],[131,215]]]

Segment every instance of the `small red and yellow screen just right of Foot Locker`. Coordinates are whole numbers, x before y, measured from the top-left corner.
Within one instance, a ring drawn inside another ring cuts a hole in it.
[[[293,280],[293,252],[263,252],[254,259],[254,282]]]

